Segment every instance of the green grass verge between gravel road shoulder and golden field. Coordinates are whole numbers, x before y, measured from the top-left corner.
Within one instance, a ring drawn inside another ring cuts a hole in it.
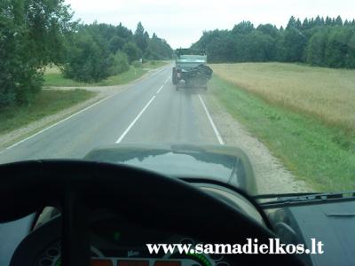
[[[355,132],[345,132],[312,116],[272,105],[216,75],[209,87],[228,113],[314,190],[355,188]]]

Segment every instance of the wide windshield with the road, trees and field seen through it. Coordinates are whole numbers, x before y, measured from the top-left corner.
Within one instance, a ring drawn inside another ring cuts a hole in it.
[[[355,2],[0,3],[0,164],[355,189]]]

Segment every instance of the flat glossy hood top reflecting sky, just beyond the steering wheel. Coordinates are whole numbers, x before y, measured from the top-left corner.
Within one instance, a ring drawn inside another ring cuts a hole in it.
[[[196,151],[148,151],[117,146],[115,149],[94,151],[86,159],[123,163],[157,171],[168,176],[213,177],[228,182],[233,175],[236,160],[230,155]],[[184,167],[182,167],[184,166]]]

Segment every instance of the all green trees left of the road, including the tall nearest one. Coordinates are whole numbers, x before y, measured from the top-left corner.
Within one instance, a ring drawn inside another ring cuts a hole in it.
[[[82,82],[122,73],[138,59],[170,59],[169,43],[139,22],[127,27],[73,20],[64,0],[0,1],[0,108],[29,105],[46,66]]]

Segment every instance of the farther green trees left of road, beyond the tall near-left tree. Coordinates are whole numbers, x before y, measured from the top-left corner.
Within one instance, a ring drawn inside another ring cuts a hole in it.
[[[172,49],[165,40],[146,32],[138,22],[134,33],[127,27],[94,22],[78,25],[67,37],[63,74],[81,82],[98,82],[127,71],[138,59],[170,59]]]

